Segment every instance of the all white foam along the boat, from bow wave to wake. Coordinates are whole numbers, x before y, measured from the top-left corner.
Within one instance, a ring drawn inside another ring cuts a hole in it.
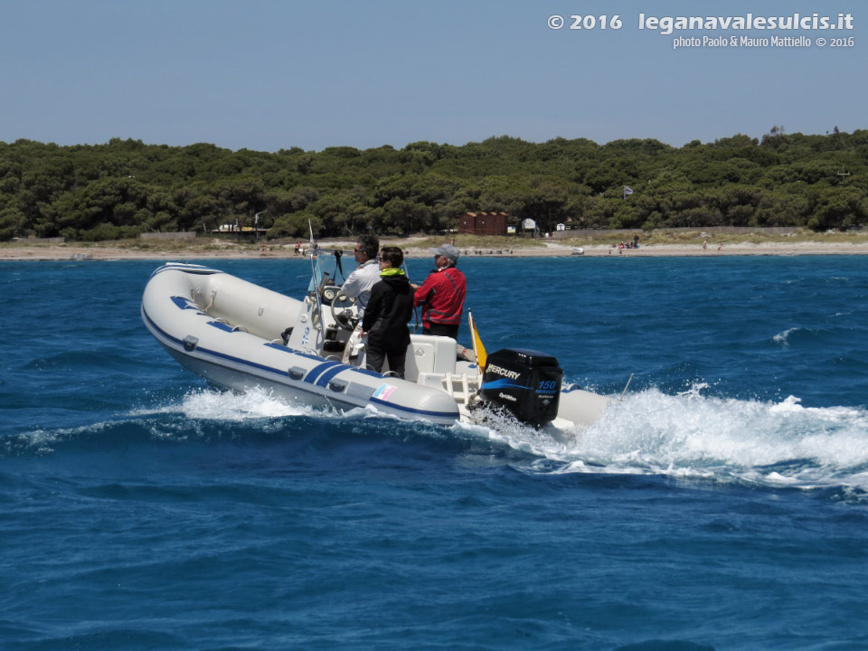
[[[585,429],[536,430],[503,415],[485,425],[457,423],[456,439],[486,439],[531,457],[527,468],[540,473],[604,473],[703,477],[762,486],[844,486],[868,490],[868,411],[853,407],[805,407],[800,399],[743,401],[704,396],[704,383],[668,395],[657,389],[613,401],[599,422]],[[181,422],[165,420],[180,417]],[[322,410],[291,404],[264,390],[247,393],[197,390],[179,401],[131,410],[133,421],[153,419],[152,439],[187,439],[190,423],[247,423],[297,417],[315,420],[395,420],[376,410]],[[22,434],[14,448],[52,453],[64,440],[99,436],[120,421],[83,428],[36,429]],[[184,425],[184,423],[187,423]],[[193,428],[195,429],[195,428]],[[388,428],[387,428],[388,429]],[[7,448],[12,441],[7,441]],[[12,448],[7,452],[13,451]]]

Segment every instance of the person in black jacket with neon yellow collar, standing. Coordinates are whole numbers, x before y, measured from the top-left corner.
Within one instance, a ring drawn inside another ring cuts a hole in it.
[[[368,367],[380,373],[383,359],[388,358],[389,370],[401,378],[410,345],[407,322],[413,315],[413,290],[401,269],[403,261],[398,247],[384,247],[380,252],[381,280],[371,288],[362,319],[362,329],[368,335]]]

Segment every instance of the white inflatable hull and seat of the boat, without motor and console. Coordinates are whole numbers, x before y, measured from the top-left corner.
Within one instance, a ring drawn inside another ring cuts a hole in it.
[[[316,297],[297,300],[199,265],[156,269],[141,312],[169,354],[222,388],[246,392],[259,387],[290,402],[373,409],[439,425],[475,420],[468,407],[481,374],[475,363],[456,359],[456,343],[447,337],[411,335],[406,380],[374,373],[364,368],[363,358],[354,365],[325,352],[329,341],[345,343],[349,331],[335,323]],[[566,389],[554,425],[598,420],[608,402],[594,393]]]

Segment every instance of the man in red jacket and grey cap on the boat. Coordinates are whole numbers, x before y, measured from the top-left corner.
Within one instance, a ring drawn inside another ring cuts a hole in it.
[[[464,297],[467,295],[467,278],[458,271],[458,249],[444,244],[431,249],[434,254],[434,271],[425,282],[411,285],[416,290],[413,307],[422,306],[422,334],[458,338]]]

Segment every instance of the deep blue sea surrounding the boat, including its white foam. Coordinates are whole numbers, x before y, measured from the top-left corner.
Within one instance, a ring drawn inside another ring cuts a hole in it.
[[[562,439],[216,392],[160,263],[0,262],[5,651],[868,649],[868,259],[460,260],[489,352],[635,373]]]

